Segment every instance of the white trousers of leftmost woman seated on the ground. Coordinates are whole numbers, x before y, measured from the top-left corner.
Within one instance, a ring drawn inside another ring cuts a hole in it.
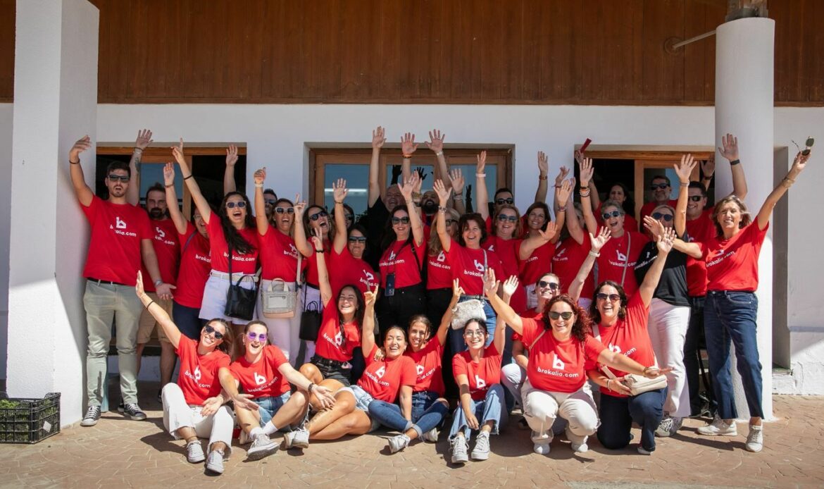
[[[208,438],[208,451],[212,451],[214,444],[222,441],[226,444],[224,459],[232,453],[232,430],[235,427],[235,415],[227,406],[221,406],[210,416],[202,416],[201,406],[190,406],[183,397],[183,391],[174,383],[167,383],[162,391],[163,399],[163,426],[180,440],[177,430],[180,428],[194,428],[198,438]]]

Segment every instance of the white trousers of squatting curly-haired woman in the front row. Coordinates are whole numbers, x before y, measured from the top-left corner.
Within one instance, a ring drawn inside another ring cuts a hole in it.
[[[552,440],[552,425],[558,416],[569,421],[566,435],[573,443],[585,443],[598,429],[595,402],[583,388],[574,393],[552,393],[532,388],[529,379],[523,383],[523,416],[533,431],[532,441]]]

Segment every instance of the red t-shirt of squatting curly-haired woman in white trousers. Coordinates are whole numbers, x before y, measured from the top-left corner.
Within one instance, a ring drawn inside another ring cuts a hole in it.
[[[529,364],[527,377],[532,387],[553,393],[574,393],[587,381],[587,369],[594,368],[606,346],[590,335],[586,340],[578,341],[570,336],[566,341],[559,341],[552,331],[544,331],[541,318],[522,318],[523,344],[529,346]],[[540,336],[540,339],[538,339]]]

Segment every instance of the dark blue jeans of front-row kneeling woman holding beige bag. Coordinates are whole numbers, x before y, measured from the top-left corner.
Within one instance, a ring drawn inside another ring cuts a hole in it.
[[[655,430],[661,423],[666,400],[666,388],[632,397],[601,393],[598,440],[605,449],[623,449],[630,444],[630,428],[635,421],[641,427],[641,446],[652,452],[655,449]]]

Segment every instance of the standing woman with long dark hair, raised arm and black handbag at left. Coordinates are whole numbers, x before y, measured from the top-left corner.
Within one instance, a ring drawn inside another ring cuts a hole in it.
[[[255,222],[252,220],[251,205],[246,195],[239,192],[229,192],[223,196],[217,215],[213,214],[208,201],[200,192],[198,182],[194,180],[189,163],[183,154],[183,139],[180,144],[172,146],[180,172],[183,174],[187,188],[194,200],[201,217],[206,223],[209,235],[210,260],[212,271],[206,280],[204,300],[200,307],[199,317],[211,320],[222,317],[232,322],[235,336],[243,330],[246,320],[229,317],[224,313],[227,301],[229,284],[240,280],[241,287],[254,289],[258,267],[258,234],[255,232]],[[232,275],[229,275],[229,256],[232,256]]]

